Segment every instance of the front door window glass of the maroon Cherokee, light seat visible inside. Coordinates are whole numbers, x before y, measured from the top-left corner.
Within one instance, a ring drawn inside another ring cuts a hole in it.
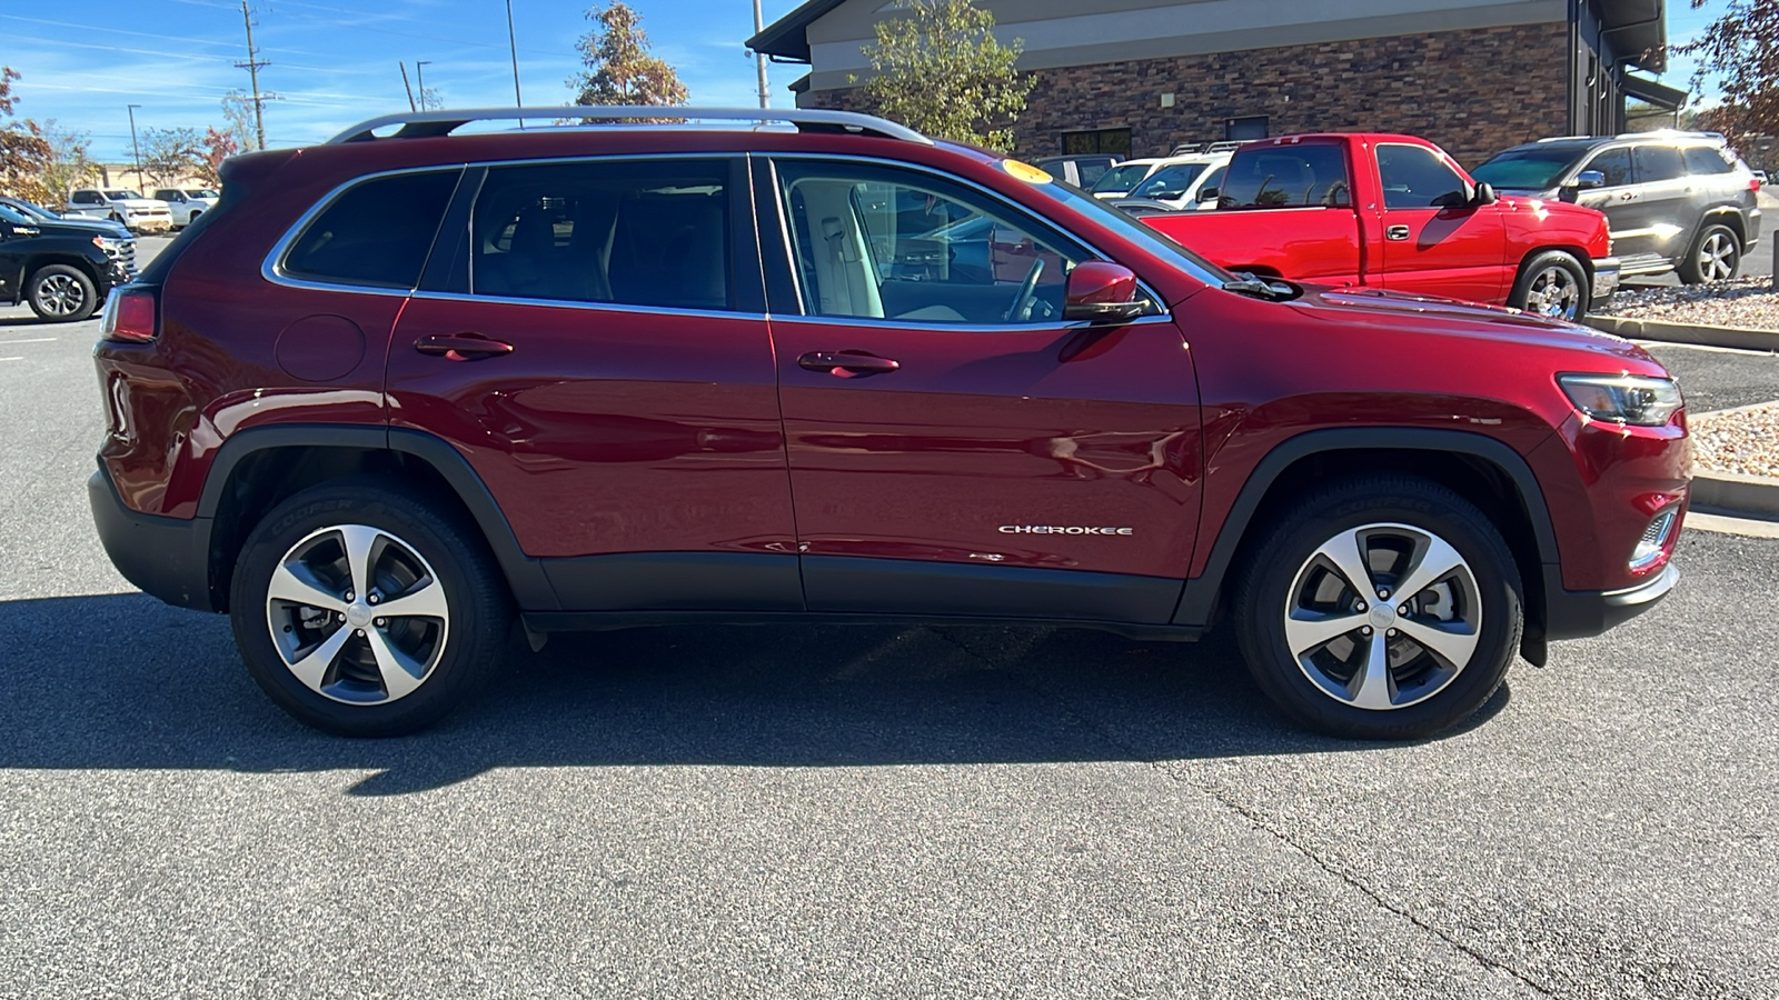
[[[1085,260],[1014,208],[913,171],[792,160],[779,192],[809,315],[1057,322]]]

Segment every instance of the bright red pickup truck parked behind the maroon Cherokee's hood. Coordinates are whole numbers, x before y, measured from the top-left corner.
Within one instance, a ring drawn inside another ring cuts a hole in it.
[[[1509,304],[1578,320],[1619,286],[1606,217],[1501,198],[1425,139],[1322,133],[1242,146],[1215,212],[1142,221],[1229,270]]]

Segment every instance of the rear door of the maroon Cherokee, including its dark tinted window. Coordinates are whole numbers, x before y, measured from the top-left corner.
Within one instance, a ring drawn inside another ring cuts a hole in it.
[[[802,610],[745,160],[498,165],[390,351],[562,610]]]

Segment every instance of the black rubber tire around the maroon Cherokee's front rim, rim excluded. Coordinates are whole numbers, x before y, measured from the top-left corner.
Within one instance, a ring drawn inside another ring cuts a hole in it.
[[[1283,520],[1251,562],[1242,587],[1240,639],[1254,681],[1299,722],[1340,737],[1418,738],[1468,719],[1501,685],[1519,649],[1523,598],[1512,553],[1482,512],[1455,493],[1439,488],[1336,493],[1327,507]],[[1284,609],[1302,564],[1327,539],[1368,523],[1402,523],[1443,537],[1469,564],[1482,598],[1482,633],[1469,664],[1445,690],[1389,712],[1354,708],[1324,694],[1284,637]]]

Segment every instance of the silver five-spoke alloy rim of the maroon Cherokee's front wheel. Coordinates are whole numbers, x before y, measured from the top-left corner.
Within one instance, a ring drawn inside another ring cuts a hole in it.
[[[1469,564],[1411,525],[1363,525],[1327,539],[1284,601],[1284,641],[1304,676],[1334,701],[1373,712],[1450,687],[1480,635]]]

